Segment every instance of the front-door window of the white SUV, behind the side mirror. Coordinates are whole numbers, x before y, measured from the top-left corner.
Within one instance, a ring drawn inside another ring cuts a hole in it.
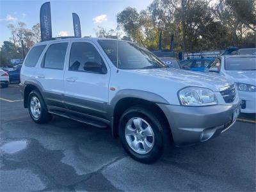
[[[106,73],[106,66],[92,44],[77,42],[71,47],[69,70]]]

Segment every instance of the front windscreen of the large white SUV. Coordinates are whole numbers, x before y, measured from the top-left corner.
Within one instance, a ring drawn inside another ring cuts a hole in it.
[[[150,51],[136,44],[118,40],[99,40],[98,42],[109,60],[118,68],[142,69],[167,67]]]

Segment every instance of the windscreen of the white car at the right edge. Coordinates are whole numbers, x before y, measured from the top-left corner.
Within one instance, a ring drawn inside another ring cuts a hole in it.
[[[226,58],[225,70],[256,70],[256,58]]]

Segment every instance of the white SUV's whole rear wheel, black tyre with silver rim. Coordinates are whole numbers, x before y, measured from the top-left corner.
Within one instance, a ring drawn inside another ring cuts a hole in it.
[[[32,90],[28,95],[28,111],[36,124],[46,124],[52,119],[42,95],[36,90]]]

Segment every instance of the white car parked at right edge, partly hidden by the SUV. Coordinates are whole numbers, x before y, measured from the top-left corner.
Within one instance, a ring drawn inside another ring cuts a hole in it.
[[[241,112],[256,113],[256,56],[220,56],[208,68],[209,72],[217,72],[236,83],[242,100]]]

